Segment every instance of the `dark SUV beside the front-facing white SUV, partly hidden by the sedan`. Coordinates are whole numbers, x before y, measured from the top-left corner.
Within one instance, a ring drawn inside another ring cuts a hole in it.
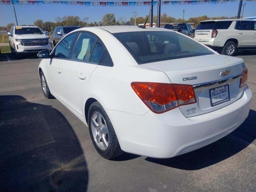
[[[53,30],[53,45],[55,46],[66,34],[69,32],[79,29],[79,26],[58,26]]]

